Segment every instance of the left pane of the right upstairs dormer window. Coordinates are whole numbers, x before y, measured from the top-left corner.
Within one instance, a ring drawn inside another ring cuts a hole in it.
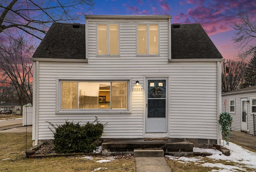
[[[147,25],[138,25],[138,54],[147,54]]]

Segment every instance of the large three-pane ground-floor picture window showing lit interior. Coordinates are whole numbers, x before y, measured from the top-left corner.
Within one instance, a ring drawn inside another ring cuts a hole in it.
[[[62,81],[61,109],[127,109],[128,81]]]

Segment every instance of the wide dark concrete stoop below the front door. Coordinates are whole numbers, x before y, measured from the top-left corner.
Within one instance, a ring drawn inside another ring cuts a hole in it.
[[[194,144],[185,139],[104,139],[102,143],[102,155],[112,156],[119,154],[154,154],[159,151],[137,151],[147,149],[162,149],[164,155],[193,156]],[[164,156],[163,155],[163,156]]]

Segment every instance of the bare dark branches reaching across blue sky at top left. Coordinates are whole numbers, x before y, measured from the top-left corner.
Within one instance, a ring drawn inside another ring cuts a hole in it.
[[[92,9],[93,0],[1,0],[0,33],[12,29],[42,40],[52,22],[74,22]]]

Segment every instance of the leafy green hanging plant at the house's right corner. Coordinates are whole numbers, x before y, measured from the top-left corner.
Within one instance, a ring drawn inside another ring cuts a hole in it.
[[[228,137],[230,135],[231,125],[233,122],[232,116],[228,112],[220,113],[220,119],[218,120],[221,126],[222,137],[224,137],[227,145],[229,145]]]

